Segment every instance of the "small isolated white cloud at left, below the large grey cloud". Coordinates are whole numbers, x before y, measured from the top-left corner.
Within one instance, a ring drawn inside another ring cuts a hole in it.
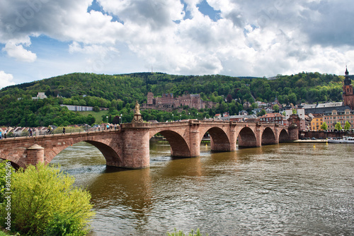
[[[30,42],[25,42],[23,45],[29,46]],[[5,47],[2,49],[8,54],[8,57],[14,57],[18,61],[33,62],[37,59],[37,55],[23,48],[22,44],[15,42],[15,40],[10,40],[6,43]]]

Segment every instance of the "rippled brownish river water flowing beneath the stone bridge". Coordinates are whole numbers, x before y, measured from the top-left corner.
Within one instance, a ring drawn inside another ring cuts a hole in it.
[[[106,167],[76,143],[52,160],[89,190],[96,235],[354,235],[354,145],[281,143],[173,159],[150,143],[150,167]]]

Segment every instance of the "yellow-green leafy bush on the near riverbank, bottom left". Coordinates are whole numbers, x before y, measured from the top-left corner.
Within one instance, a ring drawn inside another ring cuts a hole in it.
[[[42,163],[11,176],[11,230],[21,235],[86,235],[91,194],[73,187],[74,177]],[[1,225],[6,210],[0,206]]]

